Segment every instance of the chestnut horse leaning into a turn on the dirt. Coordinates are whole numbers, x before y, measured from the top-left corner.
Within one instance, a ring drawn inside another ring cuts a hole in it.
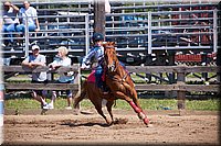
[[[106,85],[110,89],[110,92],[108,94],[103,94],[103,92],[98,89],[98,87],[95,83],[95,71],[92,71],[87,80],[85,80],[85,82],[83,83],[81,94],[74,98],[74,106],[76,106],[78,102],[87,96],[91,102],[95,105],[97,112],[105,119],[106,123],[108,125],[112,125],[114,123],[112,106],[115,100],[122,99],[127,101],[129,105],[134,109],[134,111],[138,114],[138,117],[141,119],[146,125],[148,125],[149,120],[139,104],[137,92],[135,90],[135,85],[129,74],[120,65],[117,58],[115,43],[107,42],[103,46],[105,72],[104,78]],[[102,101],[104,99],[107,100],[106,108],[110,115],[110,120],[108,120],[102,111]]]

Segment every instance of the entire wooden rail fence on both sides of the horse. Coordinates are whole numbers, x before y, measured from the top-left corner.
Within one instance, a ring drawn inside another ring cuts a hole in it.
[[[175,81],[169,85],[152,85],[152,83],[136,83],[136,90],[139,91],[177,91],[178,109],[185,109],[185,100],[187,91],[206,91],[206,92],[219,92],[220,85],[187,85],[186,75],[189,72],[215,72],[217,78],[220,78],[220,67],[214,66],[127,66],[129,72],[135,75],[150,75],[169,72],[173,74],[176,77]],[[4,78],[13,76],[14,72],[40,72],[46,71],[49,74],[61,74],[67,71],[74,71],[75,82],[74,83],[54,83],[53,81],[49,83],[31,83],[31,82],[4,82],[6,89],[11,90],[66,90],[72,89],[75,91],[81,91],[81,76],[80,76],[80,65],[73,65],[72,67],[60,67],[55,70],[51,70],[48,66],[36,67],[34,69],[21,67],[21,66],[2,66],[2,71],[8,72]],[[9,74],[11,72],[11,74]],[[162,79],[162,78],[161,78]],[[165,80],[165,79],[162,79]],[[219,79],[218,79],[219,81]],[[169,82],[169,81],[168,81]]]

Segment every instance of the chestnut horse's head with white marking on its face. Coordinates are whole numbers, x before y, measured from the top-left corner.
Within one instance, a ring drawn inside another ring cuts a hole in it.
[[[114,71],[116,69],[116,65],[118,64],[114,42],[107,42],[106,44],[104,44],[104,59],[107,69],[109,71]]]

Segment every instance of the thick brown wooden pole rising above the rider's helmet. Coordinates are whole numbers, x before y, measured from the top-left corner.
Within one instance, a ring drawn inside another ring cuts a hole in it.
[[[94,0],[94,32],[105,36],[105,1]]]

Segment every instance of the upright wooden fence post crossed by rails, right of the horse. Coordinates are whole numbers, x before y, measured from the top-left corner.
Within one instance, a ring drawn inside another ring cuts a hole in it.
[[[185,85],[185,71],[177,72],[177,85]],[[185,110],[186,91],[177,91],[177,106],[178,110]]]

